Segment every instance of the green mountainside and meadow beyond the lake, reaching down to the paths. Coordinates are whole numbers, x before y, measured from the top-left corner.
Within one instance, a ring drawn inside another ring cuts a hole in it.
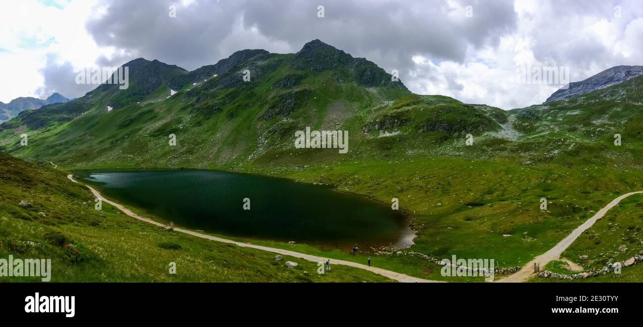
[[[614,197],[643,189],[643,76],[505,112],[412,94],[374,63],[318,40],[295,54],[239,51],[193,72],[136,64],[147,68],[144,78],[132,77],[132,90],[99,87],[23,113],[0,126],[0,147],[66,169],[229,169],[335,185],[383,203],[397,197],[418,231],[408,251],[495,258],[502,266],[529,262]],[[145,79],[154,87],[137,82]],[[295,149],[294,132],[307,126],[349,131],[349,153]],[[441,278],[424,259],[377,260]]]

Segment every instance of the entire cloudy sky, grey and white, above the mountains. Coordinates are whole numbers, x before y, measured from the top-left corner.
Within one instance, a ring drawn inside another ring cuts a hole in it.
[[[0,101],[83,96],[75,70],[134,58],[188,70],[240,49],[294,53],[319,38],[419,94],[503,109],[560,85],[516,83],[518,67],[583,80],[643,65],[640,0],[20,0],[0,9]],[[318,6],[323,6],[323,17]],[[176,17],[172,13],[176,13]]]

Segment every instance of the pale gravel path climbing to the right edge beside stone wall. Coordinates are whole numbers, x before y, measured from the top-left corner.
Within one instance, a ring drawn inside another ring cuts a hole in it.
[[[619,196],[616,199],[613,199],[610,203],[608,203],[608,205],[604,206],[604,208],[602,208],[601,210],[599,210],[599,212],[593,215],[592,218],[587,219],[587,221],[583,222],[581,226],[578,226],[574,231],[572,231],[570,235],[567,235],[565,239],[558,242],[556,246],[552,247],[549,251],[545,252],[544,254],[536,256],[534,260],[531,260],[529,263],[524,265],[522,269],[520,269],[515,274],[507,276],[507,278],[503,278],[502,280],[498,280],[498,283],[502,283],[502,282],[520,283],[522,281],[527,281],[529,278],[534,276],[534,263],[540,264],[540,268],[542,269],[550,261],[558,260],[561,256],[561,253],[563,253],[563,251],[565,251],[567,247],[572,245],[572,243],[574,243],[574,240],[576,240],[579,236],[581,236],[583,231],[592,227],[594,222],[601,219],[602,216],[604,216],[608,212],[608,210],[618,205],[620,200],[625,199],[628,196],[633,196],[634,194],[642,194],[642,193],[643,191],[629,192],[628,194],[623,194],[622,196]]]

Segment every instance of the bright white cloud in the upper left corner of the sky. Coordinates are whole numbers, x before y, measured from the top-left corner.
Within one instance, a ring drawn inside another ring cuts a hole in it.
[[[48,6],[41,1],[3,3],[0,10],[0,101],[19,96],[47,97],[42,69],[47,65],[89,67],[100,55],[113,49],[98,47],[85,28],[87,19],[96,17],[96,0],[57,1]],[[62,8],[62,9],[61,9]],[[64,82],[64,81],[60,81]],[[69,84],[74,81],[70,80]],[[71,88],[71,87],[70,87]],[[69,88],[68,88],[69,89]],[[79,94],[63,94],[68,97]]]

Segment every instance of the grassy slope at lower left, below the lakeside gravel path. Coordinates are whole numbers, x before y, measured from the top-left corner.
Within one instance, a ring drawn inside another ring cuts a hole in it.
[[[136,221],[63,172],[0,153],[0,258],[51,258],[51,281],[390,281],[334,266],[198,239]],[[19,203],[26,201],[28,206]],[[284,262],[299,264],[289,269]],[[175,262],[176,274],[169,274]],[[40,278],[0,277],[0,281]]]

